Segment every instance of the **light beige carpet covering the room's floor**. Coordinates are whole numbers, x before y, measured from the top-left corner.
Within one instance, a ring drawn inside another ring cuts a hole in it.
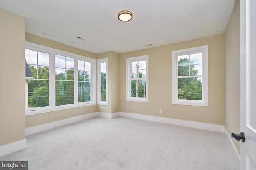
[[[224,133],[95,117],[26,136],[29,170],[238,170]]]

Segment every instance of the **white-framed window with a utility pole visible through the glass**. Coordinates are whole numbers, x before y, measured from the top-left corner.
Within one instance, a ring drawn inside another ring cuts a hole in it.
[[[126,100],[148,102],[148,55],[126,59]]]

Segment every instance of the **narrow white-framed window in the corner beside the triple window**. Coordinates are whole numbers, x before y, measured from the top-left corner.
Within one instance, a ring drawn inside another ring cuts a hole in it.
[[[108,58],[97,60],[97,104],[108,105]]]

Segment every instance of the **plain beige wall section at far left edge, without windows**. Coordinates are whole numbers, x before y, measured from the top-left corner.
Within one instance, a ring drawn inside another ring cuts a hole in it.
[[[25,18],[0,8],[0,146],[25,139]]]

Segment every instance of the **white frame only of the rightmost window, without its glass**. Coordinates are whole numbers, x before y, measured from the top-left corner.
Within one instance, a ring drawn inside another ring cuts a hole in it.
[[[178,55],[202,52],[202,100],[178,99]],[[172,104],[208,106],[208,45],[172,51]]]

